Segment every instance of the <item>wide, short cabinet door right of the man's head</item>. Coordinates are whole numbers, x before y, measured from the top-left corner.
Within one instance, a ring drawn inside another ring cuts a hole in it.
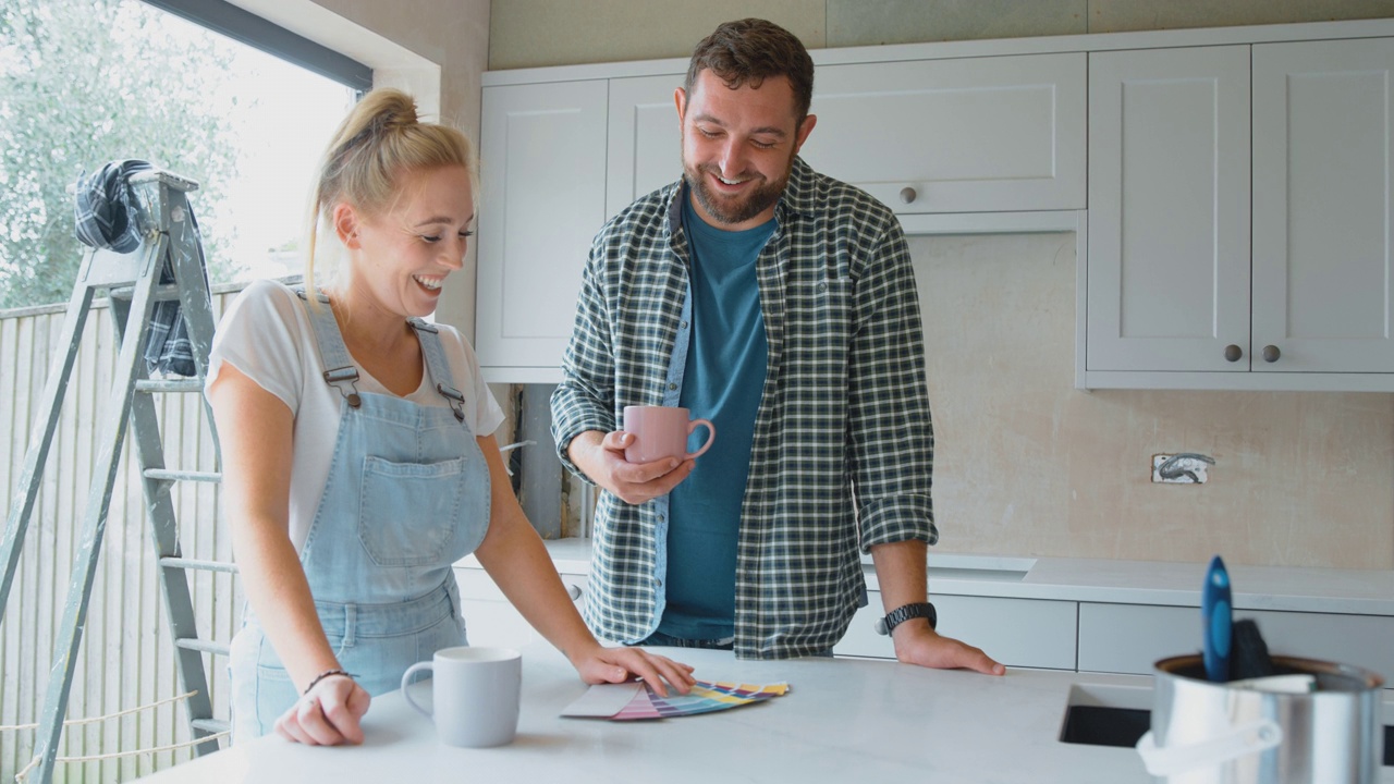
[[[1085,54],[824,66],[803,158],[896,212],[1085,206]]]

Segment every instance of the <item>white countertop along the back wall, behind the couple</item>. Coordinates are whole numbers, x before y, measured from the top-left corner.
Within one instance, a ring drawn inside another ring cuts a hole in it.
[[[559,572],[590,571],[590,540],[546,543]],[[867,587],[877,589],[871,557]],[[457,566],[478,568],[473,557]],[[1235,610],[1394,615],[1394,571],[1228,565]],[[930,594],[1200,607],[1206,564],[1103,558],[928,557]]]

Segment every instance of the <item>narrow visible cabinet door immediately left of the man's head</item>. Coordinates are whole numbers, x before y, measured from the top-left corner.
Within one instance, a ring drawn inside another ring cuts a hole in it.
[[[680,86],[683,74],[611,80],[606,216],[682,176],[683,135],[673,103]]]

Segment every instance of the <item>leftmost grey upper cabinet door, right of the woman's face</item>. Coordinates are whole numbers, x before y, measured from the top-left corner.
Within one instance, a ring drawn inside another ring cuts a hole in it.
[[[605,96],[604,80],[484,88],[475,349],[492,378],[560,378],[605,222]]]

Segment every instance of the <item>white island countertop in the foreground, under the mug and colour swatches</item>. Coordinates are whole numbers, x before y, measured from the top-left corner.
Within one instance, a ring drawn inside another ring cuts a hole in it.
[[[441,745],[429,721],[395,692],[374,700],[362,746],[308,748],[268,737],[148,781],[1150,781],[1133,749],[1057,739],[1072,684],[1131,692],[1150,706],[1150,678],[1030,670],[991,678],[855,658],[664,653],[694,664],[708,681],[785,681],[790,691],[765,703],[658,721],[560,718],[585,685],[560,654],[537,644],[524,650],[519,738],[509,746]],[[1394,769],[1381,776],[1394,784]]]

